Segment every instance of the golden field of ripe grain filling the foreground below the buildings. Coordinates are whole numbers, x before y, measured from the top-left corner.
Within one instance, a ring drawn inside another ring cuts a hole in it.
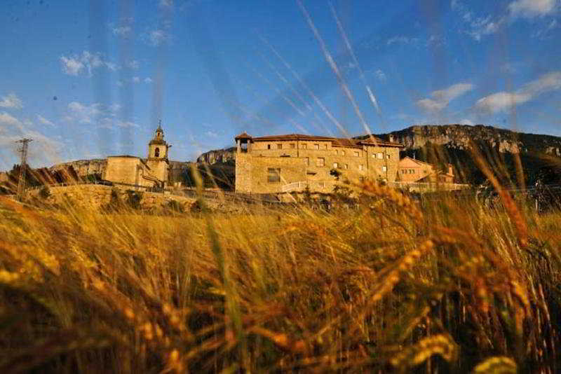
[[[363,188],[334,214],[0,200],[0,372],[558,370],[560,213]]]

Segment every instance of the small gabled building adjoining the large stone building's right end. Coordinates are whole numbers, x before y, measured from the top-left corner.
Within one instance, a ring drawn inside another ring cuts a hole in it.
[[[405,157],[399,160],[398,176],[400,183],[454,183],[454,169],[451,164],[446,169],[438,169],[427,162]]]

